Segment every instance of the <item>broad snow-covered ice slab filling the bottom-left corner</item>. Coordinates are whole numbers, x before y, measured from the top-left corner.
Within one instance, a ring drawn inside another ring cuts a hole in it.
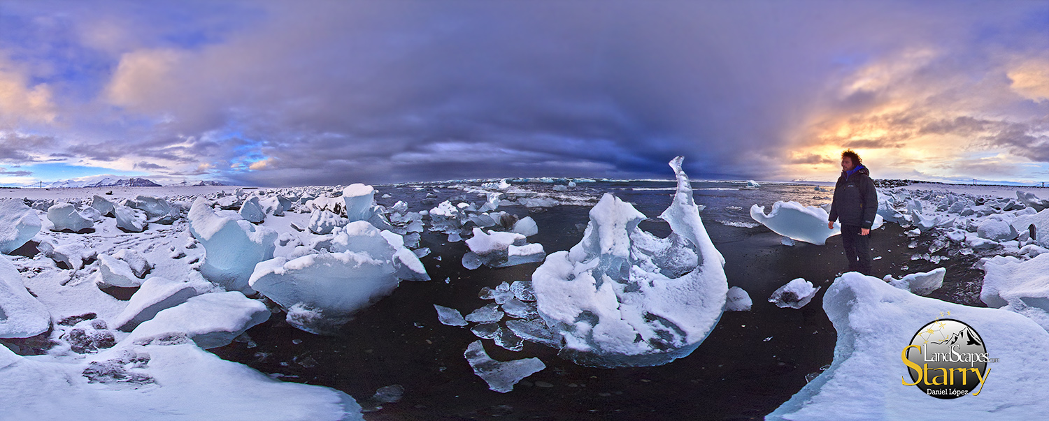
[[[111,375],[88,370],[99,367]],[[140,383],[120,378],[131,373]],[[132,346],[91,361],[0,347],[0,407],[9,420],[363,420],[342,392],[277,381],[193,344]]]

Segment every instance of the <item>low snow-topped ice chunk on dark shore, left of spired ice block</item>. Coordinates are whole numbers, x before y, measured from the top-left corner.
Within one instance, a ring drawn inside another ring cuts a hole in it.
[[[547,256],[541,244],[527,244],[524,236],[517,232],[489,231],[473,228],[473,237],[466,241],[470,251],[463,256],[463,266],[476,269],[479,264],[488,267],[506,267],[522,263],[541,262]]]

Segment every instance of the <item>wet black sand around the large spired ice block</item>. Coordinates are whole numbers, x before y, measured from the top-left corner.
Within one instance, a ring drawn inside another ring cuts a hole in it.
[[[658,215],[665,206],[642,212]],[[541,227],[585,224],[587,210],[562,205],[532,213],[540,234],[529,240],[543,244],[548,252],[568,249],[579,241],[581,230]],[[526,342],[523,351],[511,352],[484,340],[495,359],[539,357],[547,364],[513,392],[490,391],[463,357],[467,345],[477,338],[468,328],[440,324],[433,304],[467,314],[491,303],[477,298],[480,287],[529,280],[538,264],[466,270],[459,263],[466,251],[463,242],[434,248],[422,259],[432,281],[401,283],[390,296],[347,324],[342,336],[297,330],[283,320],[283,313],[276,313],[248,331],[255,344],[234,342],[211,351],[285,381],[343,391],[370,407],[367,420],[762,419],[805,386],[807,374],[818,373],[833,359],[836,333],[821,306],[827,287],[844,268],[840,240],[789,247],[764,226],[729,227],[706,217],[704,222],[726,258],[729,286],[746,289],[754,306],[748,312],[726,312],[695,352],[665,365],[594,369],[561,359],[543,346]],[[665,223],[645,222],[645,227],[657,235],[667,232]],[[424,244],[442,240],[424,235]],[[972,297],[973,285],[978,295],[983,276],[971,268],[977,257],[943,250],[940,254],[955,256],[939,265],[912,261],[912,254],[927,251],[932,237],[919,238],[917,248],[907,247],[912,240],[896,224],[875,230],[871,243],[874,256],[881,257],[874,261],[875,272],[898,278],[944,266],[945,287],[932,296],[980,305]],[[812,303],[795,310],[767,302],[773,290],[795,278],[822,287]],[[404,387],[403,400],[376,408],[376,390],[392,384]]]

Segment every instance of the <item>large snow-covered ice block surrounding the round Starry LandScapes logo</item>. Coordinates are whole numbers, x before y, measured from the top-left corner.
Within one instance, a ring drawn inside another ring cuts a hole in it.
[[[1042,377],[1031,375],[1049,371],[1042,352],[1049,349],[1049,334],[1028,318],[918,296],[857,272],[834,281],[823,295],[823,310],[837,330],[834,362],[767,420],[887,420],[915,414],[959,420],[1049,417]],[[979,396],[936,399],[901,385],[901,377],[911,381],[901,350],[939,312],[971,326],[987,345],[988,356],[1000,361],[988,365],[992,371]]]

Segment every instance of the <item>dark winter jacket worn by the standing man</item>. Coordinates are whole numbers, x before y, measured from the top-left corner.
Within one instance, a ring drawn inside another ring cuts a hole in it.
[[[858,225],[870,229],[878,214],[878,191],[871,181],[871,172],[860,165],[849,175],[844,171],[834,186],[834,202],[831,203],[830,221],[841,225]]]

